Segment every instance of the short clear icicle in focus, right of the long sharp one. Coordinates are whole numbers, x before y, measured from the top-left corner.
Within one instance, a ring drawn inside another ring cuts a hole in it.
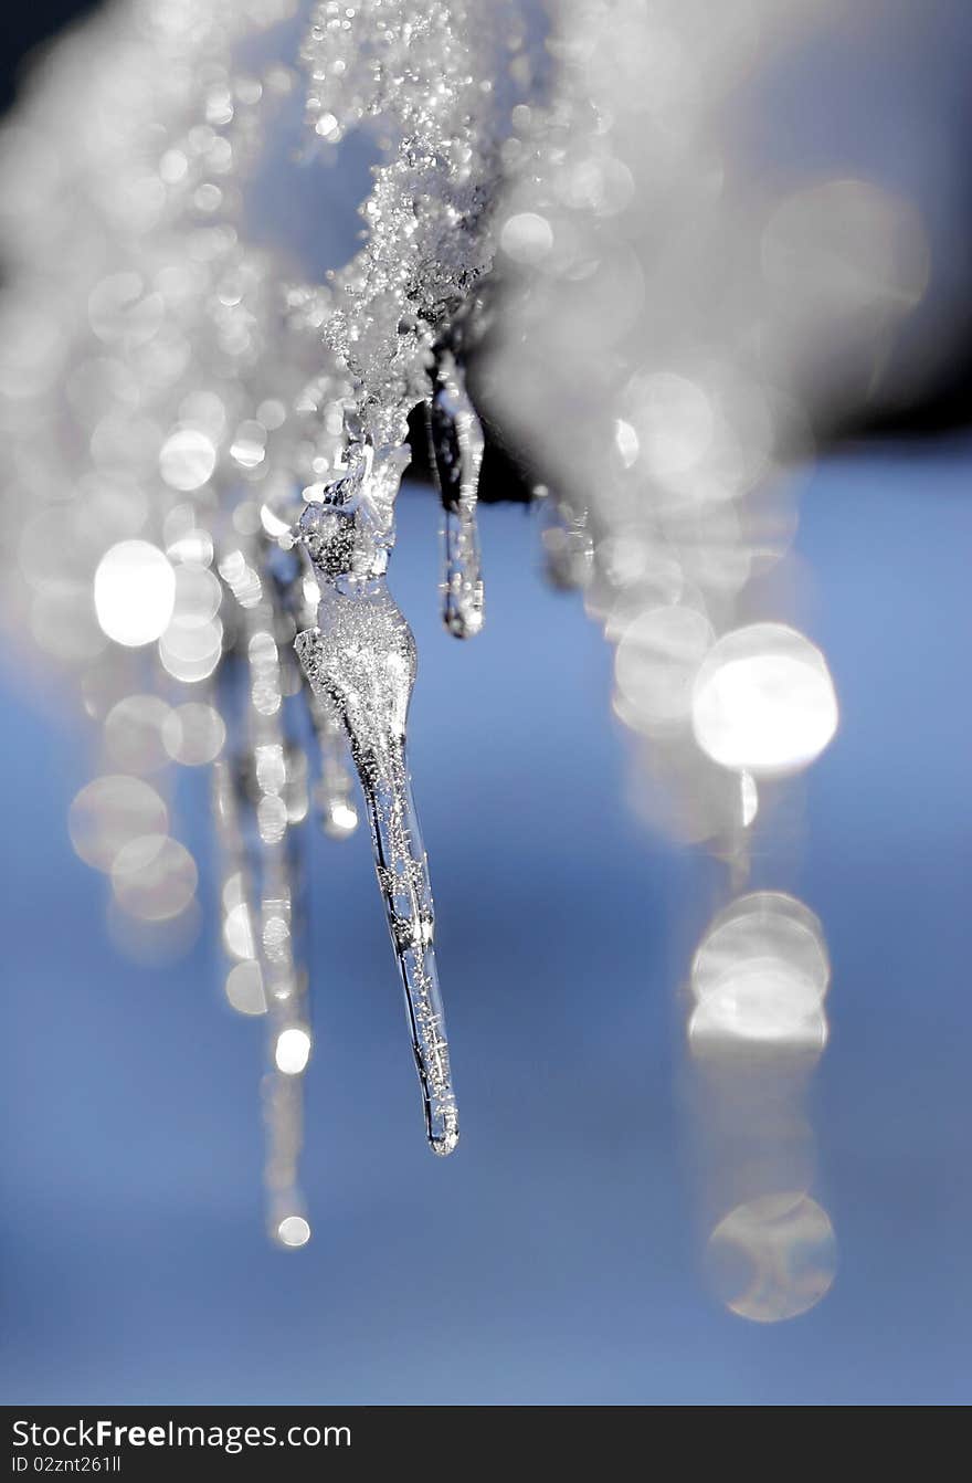
[[[439,354],[433,394],[425,403],[430,461],[442,507],[443,623],[458,639],[483,626],[483,575],[476,526],[483,429],[449,350]]]

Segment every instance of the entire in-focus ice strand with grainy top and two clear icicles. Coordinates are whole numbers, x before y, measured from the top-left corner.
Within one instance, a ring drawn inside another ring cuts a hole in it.
[[[483,436],[462,371],[439,347],[490,261],[486,209],[498,168],[496,116],[490,86],[470,74],[470,55],[496,56],[511,19],[505,6],[477,16],[462,3],[370,0],[354,15],[324,4],[305,44],[314,79],[341,79],[311,99],[313,111],[326,110],[316,119],[319,133],[339,139],[348,117],[364,111],[400,131],[397,154],[376,172],[363,208],[369,239],[338,276],[324,320],[351,384],[342,472],[307,491],[292,538],[310,559],[320,596],[296,651],[317,704],[348,736],[436,1154],[452,1152],[459,1127],[428,865],[407,770],[415,639],[385,571],[394,498],[409,461],[407,414],[425,400],[446,522],[445,623],[458,638],[482,627],[476,494]]]

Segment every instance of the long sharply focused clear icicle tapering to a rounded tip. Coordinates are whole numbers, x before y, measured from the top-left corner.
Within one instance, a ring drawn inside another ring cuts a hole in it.
[[[433,951],[433,897],[406,759],[415,639],[385,583],[402,460],[372,469],[372,449],[308,504],[295,538],[320,587],[317,627],[296,636],[311,690],[351,743],[372,826],[375,866],[405,988],[428,1140],[450,1154],[459,1129]]]

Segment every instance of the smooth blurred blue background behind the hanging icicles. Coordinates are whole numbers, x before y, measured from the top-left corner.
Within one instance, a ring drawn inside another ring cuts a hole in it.
[[[483,512],[468,648],[410,483],[393,587],[464,1136],[439,1161],[416,1129],[366,839],[305,825],[313,1238],[271,1247],[262,1032],[222,994],[204,770],[173,799],[199,936],[139,965],[68,838],[90,737],[6,636],[7,1401],[968,1401],[969,21],[867,15],[772,74],[759,133],[770,165],[879,179],[928,243],[901,374],[813,400],[782,615],[827,655],[840,727],[747,856],[748,890],[822,924],[825,1053],[689,1054],[726,865],[646,823],[610,648],[544,583],[526,480]],[[18,19],[6,101],[70,18]]]

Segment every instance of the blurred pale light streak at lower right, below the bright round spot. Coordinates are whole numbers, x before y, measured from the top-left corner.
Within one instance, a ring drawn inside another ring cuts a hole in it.
[[[837,1243],[809,1197],[809,1072],[827,1041],[830,960],[818,918],[782,891],[719,912],[695,954],[689,1044],[711,1209],[716,1295],[753,1323],[806,1312],[834,1280]]]

